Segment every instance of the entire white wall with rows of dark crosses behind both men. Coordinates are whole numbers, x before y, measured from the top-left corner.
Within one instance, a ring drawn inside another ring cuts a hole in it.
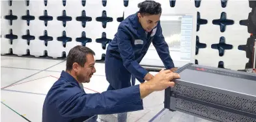
[[[1,54],[65,58],[72,47],[83,45],[96,53],[96,60],[104,60],[119,23],[137,12],[142,1],[1,1]],[[192,34],[197,64],[244,69],[248,30],[253,32],[246,22],[248,14],[254,14],[252,1],[155,1],[162,4],[165,16],[197,14],[193,19],[197,32]],[[157,56],[156,51],[145,58],[151,55]]]

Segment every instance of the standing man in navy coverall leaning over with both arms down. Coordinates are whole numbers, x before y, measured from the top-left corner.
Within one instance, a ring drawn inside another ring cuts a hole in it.
[[[115,38],[107,46],[105,57],[106,79],[109,82],[107,90],[134,86],[135,79],[142,83],[153,78],[153,75],[139,65],[151,42],[164,62],[165,68],[173,72],[177,70],[162,34],[160,3],[143,1],[138,7],[138,12],[120,23]],[[118,114],[118,117],[123,122],[127,114]]]

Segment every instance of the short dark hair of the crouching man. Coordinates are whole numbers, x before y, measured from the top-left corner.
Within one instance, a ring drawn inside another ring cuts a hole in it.
[[[66,58],[66,70],[70,71],[75,62],[83,67],[85,62],[87,62],[86,56],[88,54],[95,55],[94,51],[82,45],[77,45],[76,47],[70,49]]]

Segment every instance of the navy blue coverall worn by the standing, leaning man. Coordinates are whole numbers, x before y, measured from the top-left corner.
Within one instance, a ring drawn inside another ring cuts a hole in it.
[[[139,63],[146,55],[151,42],[164,62],[165,68],[175,67],[162,34],[160,21],[148,34],[139,23],[137,13],[128,16],[120,23],[115,38],[111,40],[106,51],[105,70],[106,79],[109,82],[107,90],[134,86],[135,78],[139,82],[145,81],[143,79],[148,71]]]

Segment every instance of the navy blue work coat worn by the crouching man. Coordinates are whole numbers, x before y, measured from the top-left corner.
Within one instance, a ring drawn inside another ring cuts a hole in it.
[[[139,85],[102,93],[85,93],[78,81],[63,71],[46,95],[42,122],[80,122],[94,115],[142,109]]]

